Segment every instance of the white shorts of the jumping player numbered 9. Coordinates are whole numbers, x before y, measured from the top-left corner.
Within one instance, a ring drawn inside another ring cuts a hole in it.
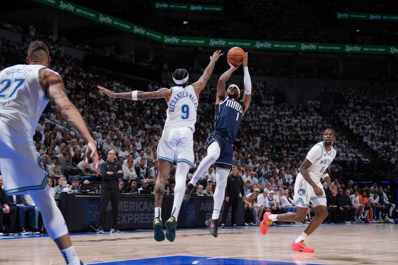
[[[159,159],[194,166],[194,133],[189,127],[168,127],[158,144]]]

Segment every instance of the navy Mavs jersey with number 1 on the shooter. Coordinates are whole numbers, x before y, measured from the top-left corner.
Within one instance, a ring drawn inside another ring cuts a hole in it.
[[[224,101],[215,105],[215,118],[211,131],[220,132],[233,140],[238,134],[242,115],[242,102],[227,96]]]

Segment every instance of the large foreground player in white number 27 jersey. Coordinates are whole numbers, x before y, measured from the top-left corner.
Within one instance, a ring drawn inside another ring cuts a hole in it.
[[[86,165],[92,158],[98,169],[98,154],[82,116],[65,93],[61,77],[47,68],[50,61],[47,46],[41,41],[33,41],[28,47],[28,65],[15,65],[0,72],[0,171],[6,195],[28,193],[32,197],[66,264],[83,264],[47,187],[47,175],[37,163],[31,140],[50,98],[86,141]]]

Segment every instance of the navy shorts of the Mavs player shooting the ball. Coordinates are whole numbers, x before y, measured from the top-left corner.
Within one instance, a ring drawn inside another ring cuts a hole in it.
[[[220,156],[214,162],[214,167],[230,169],[233,159],[232,143],[229,142],[225,136],[218,132],[211,132],[208,135],[206,140],[206,149],[213,142],[217,142],[221,149]]]

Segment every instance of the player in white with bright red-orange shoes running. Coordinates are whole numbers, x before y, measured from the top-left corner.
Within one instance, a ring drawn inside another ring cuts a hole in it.
[[[305,245],[304,240],[325,220],[328,216],[326,207],[326,196],[320,178],[326,181],[333,194],[336,187],[332,186],[330,177],[326,170],[336,157],[333,143],[336,135],[333,129],[326,129],[323,133],[322,142],[314,145],[309,150],[306,158],[299,168],[299,174],[295,183],[294,199],[297,203],[297,212],[284,214],[271,214],[266,212],[264,220],[260,224],[260,232],[265,235],[270,225],[275,221],[300,222],[305,219],[309,202],[315,206],[316,214],[313,220],[301,235],[292,243],[292,249],[301,252],[314,252],[313,248]]]

